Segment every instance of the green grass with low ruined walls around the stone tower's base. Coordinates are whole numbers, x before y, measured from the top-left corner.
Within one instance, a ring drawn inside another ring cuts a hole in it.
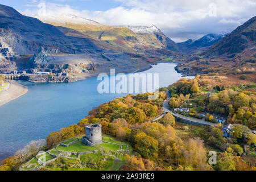
[[[73,142],[77,138],[68,139],[65,144]],[[121,147],[119,144],[129,146],[129,151],[132,151],[129,143],[119,141],[114,137],[109,135],[103,135],[102,139],[106,142],[117,143],[111,144],[103,142],[96,146],[86,146],[79,140],[76,143],[71,144],[68,147],[58,146],[57,148],[53,148],[49,150],[51,154],[59,155],[64,152],[85,152],[85,151],[93,151],[89,154],[81,154],[81,155],[69,155],[69,157],[77,158],[77,159],[68,159],[65,156],[56,158],[55,160],[46,164],[43,169],[51,170],[51,171],[94,171],[94,170],[116,170],[123,163],[125,163],[125,154],[126,152],[120,152]],[[126,146],[122,146],[123,150],[127,150]],[[97,151],[95,153],[95,151]],[[39,156],[41,160],[51,160],[53,157],[46,153],[46,155],[42,154]],[[32,163],[32,165],[30,164]],[[34,158],[30,163],[26,163],[23,169],[31,169],[35,167],[39,167],[38,160]]]

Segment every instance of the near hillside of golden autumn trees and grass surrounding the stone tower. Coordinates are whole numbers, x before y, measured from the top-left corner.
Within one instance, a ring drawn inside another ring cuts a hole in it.
[[[77,125],[52,132],[37,146],[31,142],[15,156],[3,160],[0,169],[255,170],[255,88],[255,83],[248,81],[201,75],[192,80],[182,78],[160,89],[156,100],[148,100],[153,93],[115,98],[90,110]],[[167,89],[171,98],[167,98]],[[181,112],[186,117],[201,117],[205,113],[205,119],[216,125],[191,125],[175,119],[171,113],[153,122],[162,115],[166,100],[171,109],[188,108],[188,112]],[[220,116],[233,125],[229,138],[223,136],[224,125],[216,123]],[[81,143],[85,126],[92,123],[101,124],[102,139],[110,143]],[[217,152],[217,164],[209,164],[209,151]]]

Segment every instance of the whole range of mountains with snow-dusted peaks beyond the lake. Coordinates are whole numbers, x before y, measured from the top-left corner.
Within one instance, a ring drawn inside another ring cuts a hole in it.
[[[184,75],[255,72],[255,17],[233,32],[177,44],[156,26],[108,26],[74,15],[41,20],[0,5],[1,74],[22,71],[32,74],[30,81],[72,82],[109,68],[137,72],[161,60],[183,61],[176,70]],[[35,75],[40,72],[51,77]]]

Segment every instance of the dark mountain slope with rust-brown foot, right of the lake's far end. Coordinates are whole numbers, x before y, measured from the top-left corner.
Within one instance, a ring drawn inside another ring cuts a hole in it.
[[[247,74],[255,81],[256,69],[256,16],[237,27],[218,43],[201,54],[188,57],[179,64],[180,73],[196,75],[200,73],[221,73],[225,75]]]

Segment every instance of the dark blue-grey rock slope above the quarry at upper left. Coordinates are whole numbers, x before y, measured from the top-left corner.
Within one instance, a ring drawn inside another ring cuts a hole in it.
[[[33,54],[40,47],[53,53],[96,53],[102,49],[90,40],[64,35],[56,27],[24,16],[12,7],[0,5],[0,43],[12,56]],[[6,56],[10,59],[12,56]]]

